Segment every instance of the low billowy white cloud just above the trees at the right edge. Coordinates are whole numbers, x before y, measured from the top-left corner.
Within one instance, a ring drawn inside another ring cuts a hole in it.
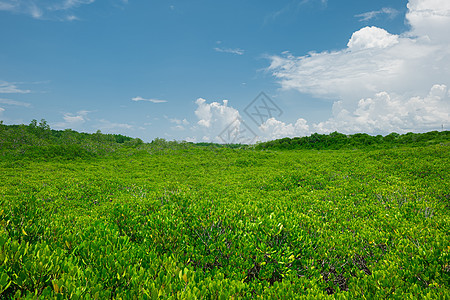
[[[450,122],[450,95],[447,86],[434,85],[424,96],[405,98],[387,92],[361,99],[353,112],[333,105],[333,117],[314,124],[314,131],[330,133],[389,133],[438,130]]]

